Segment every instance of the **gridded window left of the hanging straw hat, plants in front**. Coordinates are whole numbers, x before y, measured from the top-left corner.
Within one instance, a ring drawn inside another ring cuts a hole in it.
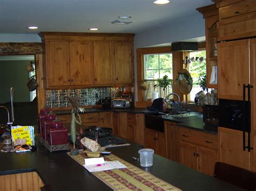
[[[172,80],[172,54],[144,54],[144,80],[149,84],[149,89],[143,92],[143,101],[150,101],[153,92],[158,93],[159,97],[172,92],[172,82],[165,93],[163,88],[154,88],[157,79],[162,79],[165,75]]]

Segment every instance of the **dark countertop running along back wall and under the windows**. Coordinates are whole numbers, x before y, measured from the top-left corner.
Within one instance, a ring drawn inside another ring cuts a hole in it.
[[[130,112],[132,114],[146,114],[150,112],[146,108],[117,108],[117,109],[103,109],[103,108],[93,108],[93,109],[86,109],[87,113],[90,112]],[[56,115],[64,115],[70,114],[70,110],[55,110],[53,111]],[[85,113],[86,113],[85,112]],[[200,114],[200,113],[199,113]],[[217,134],[218,133],[218,126],[208,125],[203,122],[203,114],[200,116],[194,117],[184,117],[184,118],[177,118],[177,117],[163,117],[164,121],[171,121],[175,123],[179,123],[179,126],[184,128],[190,128],[193,130],[203,131],[207,133]]]

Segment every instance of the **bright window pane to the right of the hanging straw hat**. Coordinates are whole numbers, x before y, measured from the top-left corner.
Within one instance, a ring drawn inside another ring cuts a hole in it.
[[[194,98],[196,97],[196,94],[203,90],[198,85],[199,76],[205,76],[206,75],[206,51],[192,51],[189,55],[190,58],[190,65],[189,65],[189,71],[191,74],[191,77],[193,78],[193,88],[190,92],[190,101],[194,101]],[[194,58],[194,59],[191,59]],[[198,58],[196,60],[196,58]],[[206,94],[206,92],[205,92]]]

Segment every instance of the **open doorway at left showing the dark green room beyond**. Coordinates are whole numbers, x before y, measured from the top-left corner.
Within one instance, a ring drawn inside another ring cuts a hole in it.
[[[0,55],[0,68],[0,104],[10,110],[10,87],[14,88],[15,125],[37,124],[37,92],[27,86],[36,77],[35,55]]]

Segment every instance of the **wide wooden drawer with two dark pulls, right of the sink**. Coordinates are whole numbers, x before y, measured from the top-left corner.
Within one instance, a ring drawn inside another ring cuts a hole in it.
[[[180,139],[215,149],[218,147],[217,135],[212,135],[210,133],[204,133],[196,130],[181,128]]]

